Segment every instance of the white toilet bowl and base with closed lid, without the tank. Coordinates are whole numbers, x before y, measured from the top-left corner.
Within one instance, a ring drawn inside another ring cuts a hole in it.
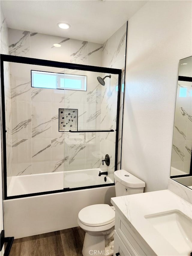
[[[77,223],[85,231],[82,254],[113,255],[115,209],[108,204],[94,204],[83,208]]]

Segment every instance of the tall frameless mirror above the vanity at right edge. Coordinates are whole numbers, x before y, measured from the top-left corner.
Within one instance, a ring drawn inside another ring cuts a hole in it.
[[[192,56],[179,61],[170,176],[192,189]]]

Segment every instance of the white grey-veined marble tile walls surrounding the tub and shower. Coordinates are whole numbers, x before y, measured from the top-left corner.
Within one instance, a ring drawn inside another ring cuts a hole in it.
[[[124,74],[126,29],[125,24],[104,45],[9,29],[9,54],[122,68]],[[53,47],[55,43],[61,47]],[[101,86],[95,78],[105,74],[88,72],[87,92],[38,89],[31,88],[31,69],[41,70],[41,67],[10,63],[12,175],[98,168],[107,153],[112,159],[108,170],[113,174],[115,132],[85,135],[58,132],[58,108],[77,108],[79,129],[115,129],[118,77],[106,78],[106,86]],[[58,72],[57,68],[43,70]],[[60,69],[59,72],[81,74],[82,71]],[[26,152],[28,156],[22,160]]]

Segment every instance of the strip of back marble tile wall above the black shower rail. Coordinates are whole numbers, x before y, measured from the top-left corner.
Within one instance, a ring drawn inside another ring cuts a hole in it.
[[[101,44],[9,29],[9,54],[14,56],[102,66],[102,49]]]

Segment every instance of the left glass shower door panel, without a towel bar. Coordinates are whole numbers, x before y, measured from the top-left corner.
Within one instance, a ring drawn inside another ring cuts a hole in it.
[[[8,68],[6,68],[8,67]],[[63,68],[4,62],[7,196],[63,189]]]

